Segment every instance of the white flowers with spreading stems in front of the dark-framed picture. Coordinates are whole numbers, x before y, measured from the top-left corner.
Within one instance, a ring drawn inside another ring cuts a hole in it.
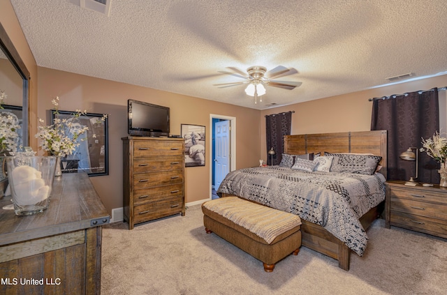
[[[72,155],[76,147],[80,145],[79,141],[82,142],[87,139],[87,137],[79,139],[80,135],[89,130],[87,126],[74,130],[73,119],[84,116],[87,114],[87,110],[81,111],[80,109],[76,109],[71,117],[59,119],[59,97],[54,98],[52,104],[56,108],[56,110],[53,111],[55,116],[52,125],[38,126],[36,138],[41,139],[39,146],[43,151],[48,151],[53,156],[65,157]],[[105,121],[105,118],[107,118],[107,115],[103,115],[101,121]],[[43,124],[45,121],[39,118],[39,123]],[[96,137],[96,135],[93,135],[93,137]]]

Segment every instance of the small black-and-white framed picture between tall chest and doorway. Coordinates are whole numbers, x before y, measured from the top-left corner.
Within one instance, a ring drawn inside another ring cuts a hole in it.
[[[205,126],[182,124],[185,167],[205,166]]]

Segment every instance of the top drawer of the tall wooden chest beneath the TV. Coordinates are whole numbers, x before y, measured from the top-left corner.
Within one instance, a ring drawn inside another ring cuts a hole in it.
[[[135,140],[133,143],[133,156],[174,156],[182,155],[183,142],[182,141],[163,141],[163,140]]]

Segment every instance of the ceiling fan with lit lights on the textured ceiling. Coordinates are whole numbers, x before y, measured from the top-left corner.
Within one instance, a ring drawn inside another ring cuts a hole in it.
[[[264,86],[274,86],[283,89],[292,90],[295,87],[300,86],[301,82],[295,81],[278,81],[272,80],[275,77],[283,77],[287,75],[293,75],[298,73],[295,68],[286,68],[284,66],[277,66],[272,70],[267,71],[267,68],[263,66],[251,66],[247,68],[247,73],[244,73],[242,70],[234,67],[228,67],[232,72],[219,71],[219,73],[223,73],[226,75],[233,75],[235,77],[239,77],[244,79],[241,82],[231,82],[231,83],[223,83],[223,84],[214,84],[214,86],[219,86],[219,88],[225,88],[230,86],[237,86],[241,84],[248,84],[245,89],[245,93],[249,96],[254,96],[254,103],[257,103],[258,97],[260,98],[260,102],[262,101],[262,96],[265,94]]]

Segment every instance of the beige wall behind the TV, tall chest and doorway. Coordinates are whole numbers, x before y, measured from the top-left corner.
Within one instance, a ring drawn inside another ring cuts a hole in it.
[[[211,100],[182,96],[141,86],[112,82],[84,75],[38,68],[38,116],[48,122],[51,100],[59,96],[59,109],[109,114],[109,175],[94,176],[91,181],[109,213],[122,207],[122,137],[127,136],[127,100],[129,98],[170,107],[172,134],[180,134],[180,125],[206,127],[205,167],[186,168],[186,202],[210,197],[210,114],[236,117],[236,168],[258,165],[261,111]]]

